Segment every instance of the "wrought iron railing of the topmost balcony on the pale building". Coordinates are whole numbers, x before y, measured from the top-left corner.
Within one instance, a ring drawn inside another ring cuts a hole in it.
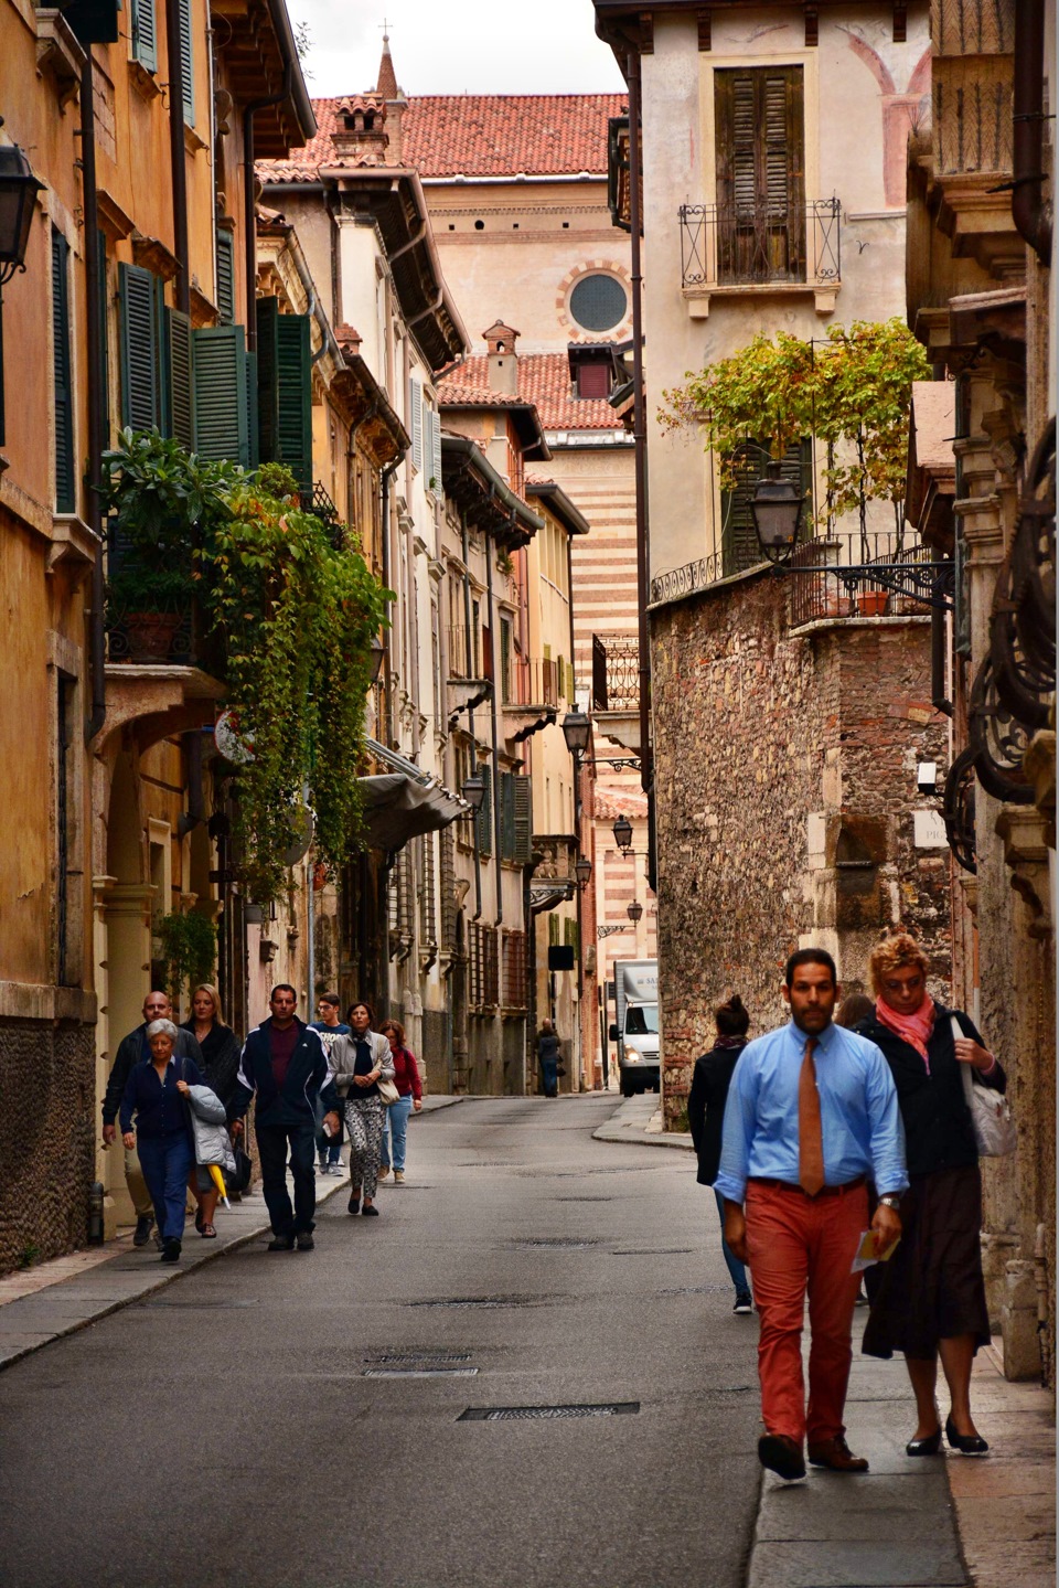
[[[838,286],[840,216],[838,198],[681,205],[681,286]]]

